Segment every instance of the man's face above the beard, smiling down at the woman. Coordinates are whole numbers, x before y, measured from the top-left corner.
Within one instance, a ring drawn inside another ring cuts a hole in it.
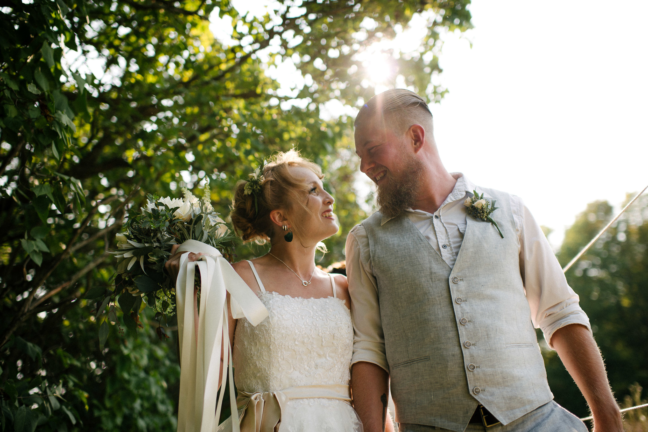
[[[356,153],[360,156],[360,171],[364,172],[378,187],[389,177],[400,177],[406,168],[410,146],[406,134],[386,126],[384,119],[376,116],[365,119],[356,126]]]

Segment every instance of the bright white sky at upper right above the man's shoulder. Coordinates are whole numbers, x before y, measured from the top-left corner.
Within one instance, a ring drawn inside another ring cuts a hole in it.
[[[268,4],[235,2],[259,14]],[[621,11],[598,0],[474,0],[470,10],[474,29],[444,36],[441,84],[450,93],[431,107],[441,157],[478,185],[522,197],[559,245],[586,203],[618,207],[648,184],[648,2]],[[396,44],[410,51],[420,31]],[[268,74],[288,95],[304,78],[286,60]],[[380,59],[367,60],[367,78],[380,79],[369,74]],[[339,105],[323,117],[353,112]]]

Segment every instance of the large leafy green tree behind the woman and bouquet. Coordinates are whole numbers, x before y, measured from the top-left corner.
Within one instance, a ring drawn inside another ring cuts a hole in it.
[[[6,0],[0,12],[3,425],[33,430],[34,422],[23,419],[36,418],[43,428],[62,430],[73,419],[98,415],[84,394],[106,387],[90,386],[73,360],[86,365],[98,352],[97,320],[115,323],[109,342],[122,325],[113,302],[115,262],[106,251],[128,209],[146,194],[199,188],[210,176],[212,198],[226,215],[237,179],[265,155],[297,146],[329,174],[343,230],[364,218],[354,202],[347,117],[323,121],[320,110],[330,100],[357,107],[373,96],[366,62],[383,54],[391,68],[383,84],[400,82],[439,100],[445,89],[430,84],[441,72],[439,32],[468,28],[468,4],[286,1],[253,16],[226,0]],[[417,12],[429,18],[420,48],[375,45]],[[226,39],[214,38],[210,16],[220,18]],[[285,89],[273,81],[271,68],[281,62],[294,63],[305,84]],[[342,256],[343,236],[328,243],[332,253],[322,264]],[[238,248],[239,257],[252,253]],[[139,318],[146,326],[145,315]],[[106,370],[118,366],[116,358],[102,361]],[[106,370],[95,380],[113,376]],[[52,396],[61,405],[54,410],[45,395],[56,391],[65,401]],[[38,394],[41,404],[34,402]]]

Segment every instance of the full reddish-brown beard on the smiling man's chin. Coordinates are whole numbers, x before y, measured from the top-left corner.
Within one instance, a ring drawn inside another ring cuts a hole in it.
[[[388,218],[398,216],[400,212],[413,207],[421,185],[423,163],[414,155],[404,161],[402,169],[386,174],[386,181],[378,186],[376,204],[380,212]]]

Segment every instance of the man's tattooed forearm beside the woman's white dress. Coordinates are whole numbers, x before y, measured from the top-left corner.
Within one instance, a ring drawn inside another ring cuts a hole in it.
[[[389,398],[389,375],[382,367],[367,361],[354,363],[351,369],[353,406],[362,420],[364,432],[393,432],[386,416]]]

